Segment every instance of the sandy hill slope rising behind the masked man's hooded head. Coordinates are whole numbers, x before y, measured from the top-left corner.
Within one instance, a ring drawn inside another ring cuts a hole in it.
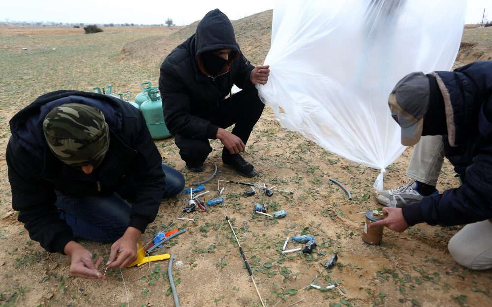
[[[153,65],[160,65],[174,48],[195,33],[198,22],[195,21],[171,35],[151,36],[129,42],[123,46],[122,59],[145,60]],[[232,24],[245,56],[254,65],[262,64],[270,49],[272,10],[232,21]]]

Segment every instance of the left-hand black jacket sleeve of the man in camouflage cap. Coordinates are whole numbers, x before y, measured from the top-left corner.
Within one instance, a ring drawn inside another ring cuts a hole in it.
[[[35,169],[37,160],[15,140],[8,142],[6,160],[12,208],[19,211],[19,222],[46,251],[63,254],[65,245],[75,238],[72,229],[59,218],[54,187],[41,178],[41,170]]]

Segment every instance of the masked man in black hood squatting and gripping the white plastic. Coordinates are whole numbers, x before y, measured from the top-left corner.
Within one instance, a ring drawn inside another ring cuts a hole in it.
[[[269,66],[254,67],[241,53],[229,18],[218,9],[166,57],[159,78],[164,119],[188,170],[203,171],[209,139],[219,139],[224,165],[256,175],[240,153],[264,108],[254,85],[266,84],[269,74]],[[234,84],[243,90],[225,98]],[[232,133],[225,130],[232,125]]]

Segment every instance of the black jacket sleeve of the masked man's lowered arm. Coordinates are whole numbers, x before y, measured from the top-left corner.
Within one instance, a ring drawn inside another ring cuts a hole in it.
[[[173,67],[163,63],[160,68],[159,90],[164,121],[171,134],[195,139],[216,139],[218,126],[192,115],[191,98]]]

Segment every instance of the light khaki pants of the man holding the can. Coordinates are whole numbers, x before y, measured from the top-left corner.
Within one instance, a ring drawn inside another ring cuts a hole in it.
[[[443,161],[442,137],[422,137],[413,149],[407,176],[435,186]],[[448,250],[455,261],[466,268],[492,268],[492,223],[487,220],[465,225],[449,240]]]

